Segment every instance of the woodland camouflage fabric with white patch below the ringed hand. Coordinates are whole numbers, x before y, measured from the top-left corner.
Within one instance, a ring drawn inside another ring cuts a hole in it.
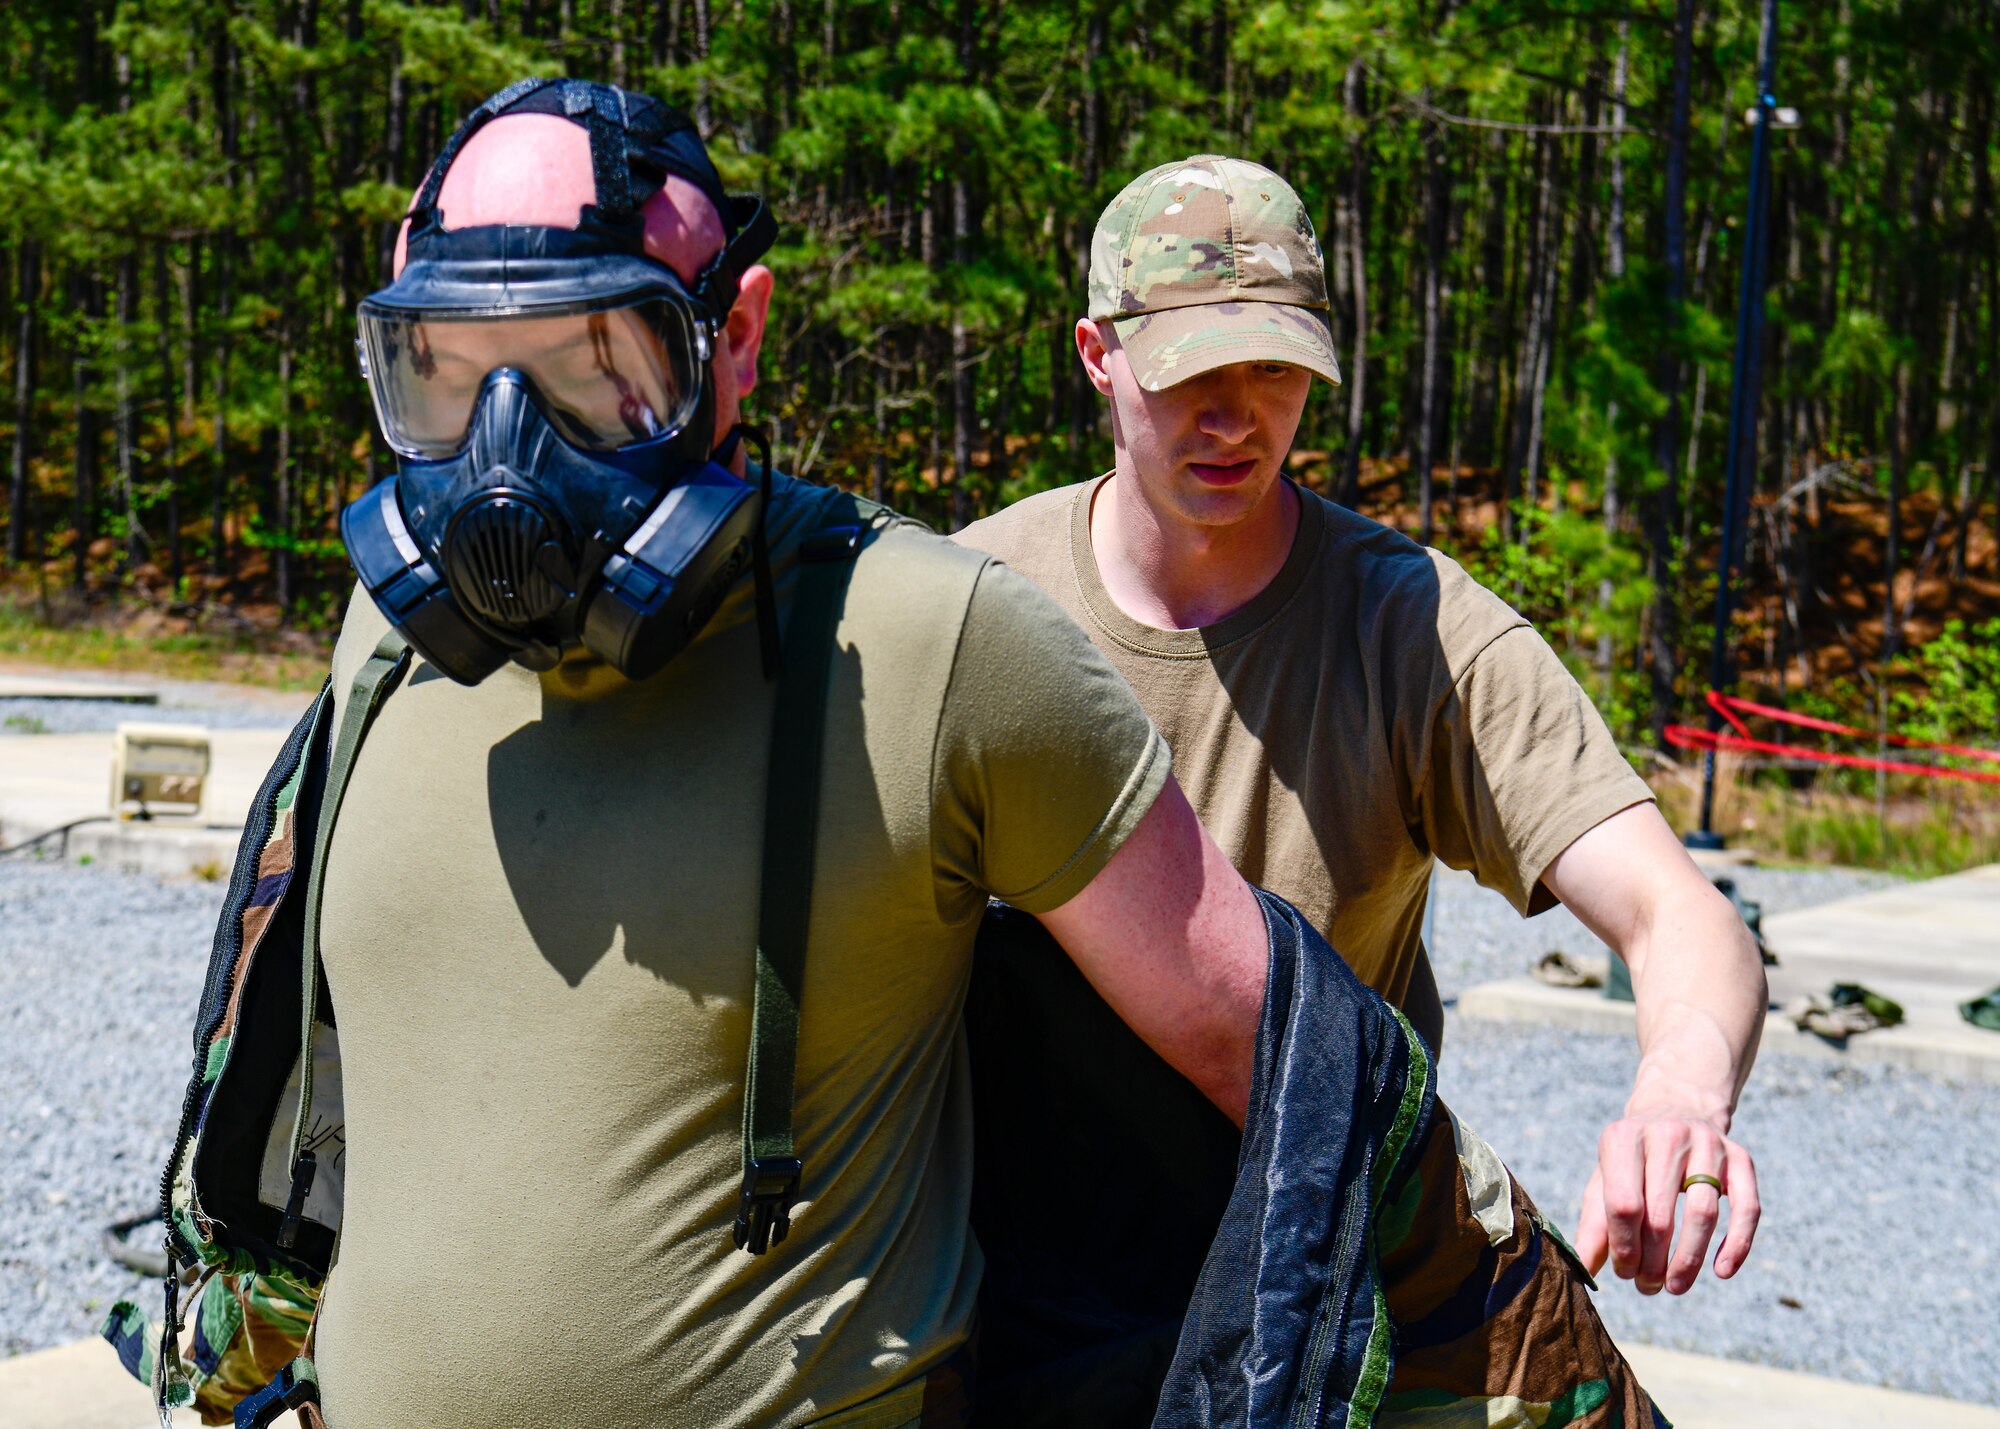
[[[1378,1429],[1666,1429],[1576,1253],[1444,1103],[1376,1247],[1396,1321]]]

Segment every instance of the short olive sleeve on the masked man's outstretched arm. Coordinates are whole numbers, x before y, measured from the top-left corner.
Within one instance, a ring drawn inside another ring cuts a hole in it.
[[[1166,741],[1088,636],[1036,584],[986,564],[932,759],[944,917],[970,919],[988,897],[1062,907],[1118,853],[1168,771]]]

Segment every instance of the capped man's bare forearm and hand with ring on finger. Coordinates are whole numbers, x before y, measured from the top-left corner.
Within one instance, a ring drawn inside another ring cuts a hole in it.
[[[1750,931],[1652,805],[1600,823],[1542,883],[1626,961],[1638,1003],[1638,1077],[1624,1117],[1598,1137],[1576,1251],[1592,1275],[1608,1257],[1642,1295],[1682,1295],[1702,1273],[1726,1195],[1716,1275],[1728,1279],[1750,1255],[1760,1215],[1756,1167],[1728,1137],[1764,1029],[1764,967]],[[1688,1185],[1696,1175],[1720,1189]]]

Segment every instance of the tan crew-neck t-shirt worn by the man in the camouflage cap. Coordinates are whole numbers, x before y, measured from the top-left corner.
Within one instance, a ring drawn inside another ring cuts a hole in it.
[[[1652,799],[1540,634],[1450,556],[1300,488],[1278,576],[1198,630],[1110,598],[1090,550],[1106,478],[958,532],[1048,590],[1138,692],[1202,823],[1394,1003],[1432,855],[1524,915],[1578,835]]]

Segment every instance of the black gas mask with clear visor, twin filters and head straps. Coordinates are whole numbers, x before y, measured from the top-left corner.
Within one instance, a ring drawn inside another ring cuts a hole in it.
[[[596,202],[576,228],[444,226],[446,170],[502,114],[590,132]],[[670,174],[728,234],[692,286],[644,250],[640,210]],[[654,98],[522,80],[460,124],[410,212],[404,270],[360,304],[398,474],[340,518],[362,586],[426,660],[478,684],[586,646],[644,678],[754,568],[770,664],[770,460],[762,488],[724,466],[748,428],[716,448],[708,362],[774,236],[764,202],[726,196],[694,124]]]

